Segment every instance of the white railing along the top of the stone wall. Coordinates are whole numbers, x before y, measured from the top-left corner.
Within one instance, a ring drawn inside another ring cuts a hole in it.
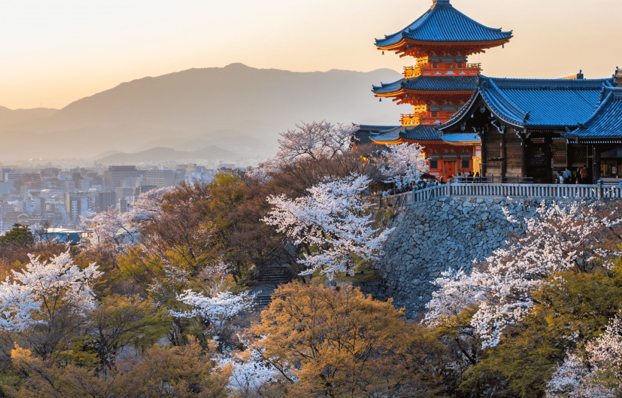
[[[530,198],[530,199],[598,199],[622,198],[622,185],[575,185],[575,184],[491,184],[447,183],[437,187],[378,197],[373,208],[407,206],[443,197],[462,198]],[[374,203],[375,202],[375,203]]]

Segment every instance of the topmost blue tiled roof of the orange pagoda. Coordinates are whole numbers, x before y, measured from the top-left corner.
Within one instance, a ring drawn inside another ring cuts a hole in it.
[[[486,27],[453,8],[449,2],[437,2],[417,21],[399,32],[376,39],[376,46],[388,47],[402,39],[420,42],[495,42],[509,40],[512,32]]]

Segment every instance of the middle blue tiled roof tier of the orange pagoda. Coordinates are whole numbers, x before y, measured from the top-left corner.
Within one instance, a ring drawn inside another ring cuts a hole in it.
[[[396,93],[399,90],[412,91],[473,91],[477,76],[417,76],[401,79],[381,86],[373,86],[375,94]]]

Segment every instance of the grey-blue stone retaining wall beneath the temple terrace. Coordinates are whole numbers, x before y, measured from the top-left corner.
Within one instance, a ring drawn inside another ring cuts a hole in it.
[[[382,280],[361,286],[363,292],[406,308],[416,318],[432,297],[430,282],[450,268],[471,269],[473,259],[484,259],[505,246],[521,226],[511,224],[503,207],[518,218],[536,214],[536,201],[440,198],[392,211],[389,227],[396,229],[376,261]]]

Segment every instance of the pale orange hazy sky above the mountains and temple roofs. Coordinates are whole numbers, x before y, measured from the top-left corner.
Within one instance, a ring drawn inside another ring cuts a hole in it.
[[[299,72],[402,70],[374,38],[432,0],[0,0],[0,106],[62,108],[123,81],[242,62]],[[555,78],[622,65],[620,0],[452,0],[514,30],[505,49],[471,57],[491,76]],[[378,83],[370,81],[369,84]],[[371,95],[371,94],[370,94]],[[252,104],[249,104],[252,106]]]

